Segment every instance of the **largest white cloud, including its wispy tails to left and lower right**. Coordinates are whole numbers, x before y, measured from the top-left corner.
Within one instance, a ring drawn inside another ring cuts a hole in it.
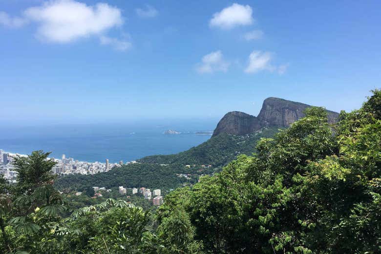
[[[68,43],[90,36],[98,37],[103,45],[126,51],[129,38],[117,39],[106,33],[123,24],[121,10],[107,3],[87,5],[76,0],[50,0],[40,6],[27,8],[21,18],[0,12],[0,24],[21,27],[26,23],[37,25],[36,37],[48,42]]]

